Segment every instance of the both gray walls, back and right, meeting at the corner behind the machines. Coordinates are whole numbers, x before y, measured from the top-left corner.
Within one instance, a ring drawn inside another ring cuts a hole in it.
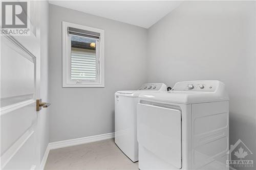
[[[229,93],[230,144],[240,138],[256,153],[255,2],[183,2],[148,30],[54,5],[49,11],[51,142],[113,132],[117,90],[213,79]],[[62,20],[105,30],[105,88],[62,88]]]

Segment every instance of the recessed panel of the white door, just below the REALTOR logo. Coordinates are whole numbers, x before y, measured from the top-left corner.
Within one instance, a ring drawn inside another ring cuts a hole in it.
[[[3,74],[1,74],[1,99],[10,100],[10,98],[20,98],[20,96],[33,94],[34,56],[30,56],[23,51],[22,47],[17,46],[7,38],[2,39],[1,72]]]

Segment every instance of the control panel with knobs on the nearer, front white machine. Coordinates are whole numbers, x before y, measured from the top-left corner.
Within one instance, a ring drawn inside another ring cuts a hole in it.
[[[178,82],[171,91],[205,91],[213,92],[217,89],[219,81],[203,80],[203,81],[187,81]]]

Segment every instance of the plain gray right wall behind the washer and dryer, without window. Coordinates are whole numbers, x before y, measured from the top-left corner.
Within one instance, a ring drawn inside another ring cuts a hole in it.
[[[147,52],[149,82],[224,82],[230,144],[255,155],[255,2],[183,2],[148,30]]]

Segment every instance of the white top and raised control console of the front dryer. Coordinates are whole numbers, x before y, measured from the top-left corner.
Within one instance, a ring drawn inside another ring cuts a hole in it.
[[[139,98],[180,104],[229,100],[224,83],[217,80],[178,82],[171,91],[141,93]]]

